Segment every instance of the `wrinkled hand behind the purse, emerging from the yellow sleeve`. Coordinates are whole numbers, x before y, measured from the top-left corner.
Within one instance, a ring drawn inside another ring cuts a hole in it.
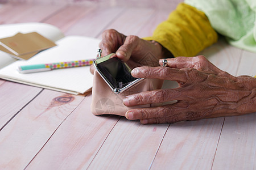
[[[115,53],[116,57],[131,67],[158,66],[159,59],[164,58],[163,48],[158,42],[146,41],[137,36],[125,36],[114,29],[102,33],[100,48],[102,56]],[[90,67],[90,72],[94,72],[93,66]]]

